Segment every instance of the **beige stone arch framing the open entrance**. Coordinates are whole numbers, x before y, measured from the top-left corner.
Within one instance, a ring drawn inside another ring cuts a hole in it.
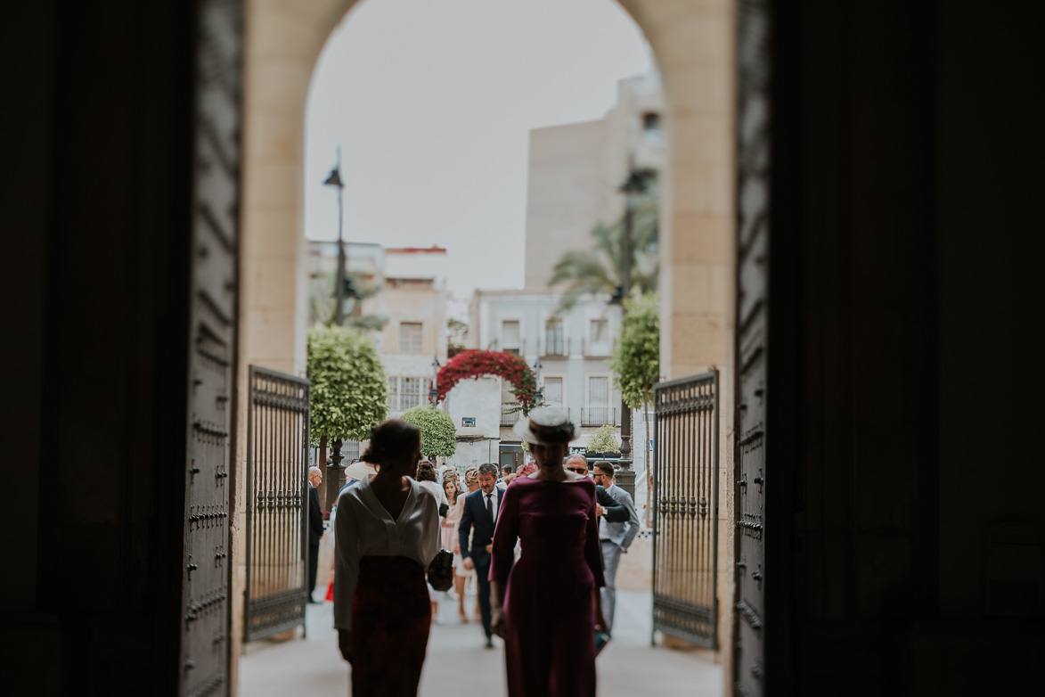
[[[372,0],[379,1],[379,0]],[[520,0],[521,1],[521,0]],[[613,1],[613,0],[607,0]],[[305,110],[316,63],[358,0],[247,0],[243,188],[240,242],[237,419],[246,422],[247,371],[260,365],[300,374],[305,365],[303,257]],[[736,0],[677,3],[617,0],[652,47],[665,89],[669,163],[661,182],[661,339],[665,378],[724,368],[721,381],[720,607],[732,607],[734,330],[734,37]],[[246,463],[246,428],[235,462]],[[236,478],[233,538],[245,526]],[[238,545],[237,545],[238,547]],[[239,579],[242,550],[234,551]],[[239,652],[242,618],[233,613]],[[732,645],[729,613],[720,646]],[[724,675],[732,674],[723,651]],[[235,664],[233,671],[235,671]],[[235,677],[233,676],[233,680]],[[726,686],[732,692],[732,686]]]

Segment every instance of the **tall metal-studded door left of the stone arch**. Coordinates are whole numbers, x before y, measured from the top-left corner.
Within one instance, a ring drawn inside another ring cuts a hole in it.
[[[229,691],[229,467],[234,419],[242,52],[240,0],[200,0],[189,282],[184,622],[179,694]]]

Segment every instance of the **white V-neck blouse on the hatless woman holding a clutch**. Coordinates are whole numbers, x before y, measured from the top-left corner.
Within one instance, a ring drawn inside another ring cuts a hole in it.
[[[359,576],[359,558],[407,557],[425,571],[439,552],[439,504],[411,480],[407,503],[397,519],[377,499],[370,482],[361,481],[341,492],[334,519],[333,626],[352,628],[352,598]]]

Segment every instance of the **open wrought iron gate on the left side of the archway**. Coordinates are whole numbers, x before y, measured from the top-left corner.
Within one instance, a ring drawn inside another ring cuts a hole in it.
[[[248,642],[303,625],[308,603],[308,380],[251,366],[250,384]]]

